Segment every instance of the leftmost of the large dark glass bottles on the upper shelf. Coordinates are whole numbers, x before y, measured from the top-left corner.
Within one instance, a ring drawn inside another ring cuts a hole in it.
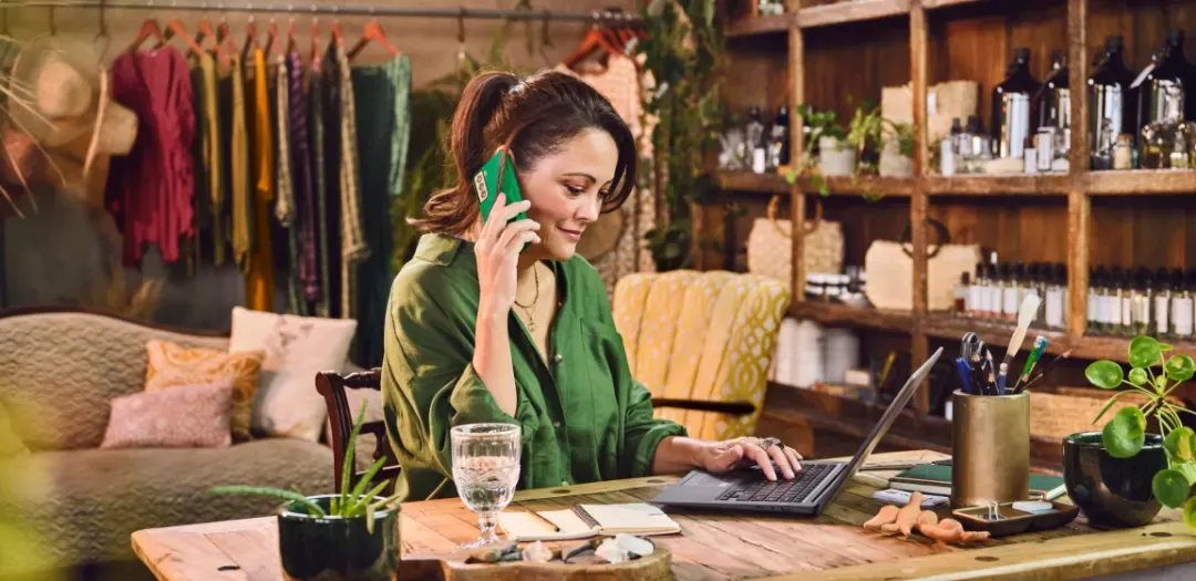
[[[1013,62],[1005,81],[993,88],[994,158],[1025,157],[1024,147],[1031,132],[1031,99],[1042,82],[1030,73],[1030,49],[1013,49]]]

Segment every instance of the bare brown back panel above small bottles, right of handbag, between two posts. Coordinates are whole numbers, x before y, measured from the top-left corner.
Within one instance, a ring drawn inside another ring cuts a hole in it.
[[[951,239],[959,244],[980,244],[983,251],[996,251],[1001,262],[1067,262],[1067,203],[1050,201],[952,200],[933,198],[929,216],[941,221]],[[930,236],[933,244],[934,237]],[[987,258],[987,256],[986,256]]]

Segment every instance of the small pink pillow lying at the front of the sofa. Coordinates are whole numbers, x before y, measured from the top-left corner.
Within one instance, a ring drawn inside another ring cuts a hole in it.
[[[232,381],[112,399],[103,448],[220,448],[232,444]]]

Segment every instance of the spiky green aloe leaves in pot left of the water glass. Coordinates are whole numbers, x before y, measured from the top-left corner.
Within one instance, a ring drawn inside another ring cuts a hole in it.
[[[353,455],[358,441],[358,434],[361,433],[361,424],[365,421],[366,404],[367,402],[362,402],[361,411],[358,414],[358,420],[353,423],[353,430],[349,433],[349,441],[344,452],[344,461],[341,465],[341,490],[337,496],[332,497],[328,510],[324,510],[323,507],[305,496],[298,487],[293,490],[286,490],[273,487],[232,485],[214,487],[209,489],[208,493],[273,496],[275,499],[291,501],[292,509],[294,509],[294,512],[304,512],[311,516],[341,519],[365,516],[366,530],[373,532],[374,512],[398,500],[398,495],[396,494],[393,496],[379,497],[383,489],[386,488],[386,484],[390,484],[390,482],[386,481],[378,483],[370,490],[366,490],[366,487],[370,485],[370,482],[373,481],[373,477],[378,475],[378,471],[382,470],[383,465],[386,463],[385,458],[379,458],[374,461],[373,465],[370,466],[370,470],[367,470],[366,473],[358,481],[358,484],[352,489],[349,488],[354,466]]]

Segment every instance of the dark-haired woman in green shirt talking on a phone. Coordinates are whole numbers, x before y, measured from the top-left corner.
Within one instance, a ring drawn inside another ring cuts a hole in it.
[[[524,201],[498,195],[483,224],[472,177],[500,146]],[[635,184],[635,142],[605,98],[559,72],[484,73],[462,94],[451,148],[457,185],[415,221],[426,234],[388,307],[382,381],[401,499],[456,494],[448,432],[475,422],[520,426],[520,489],[749,463],[775,479],[774,461],[794,477],[793,448],[685,438],[652,417],[631,379],[602,279],[574,253]]]

